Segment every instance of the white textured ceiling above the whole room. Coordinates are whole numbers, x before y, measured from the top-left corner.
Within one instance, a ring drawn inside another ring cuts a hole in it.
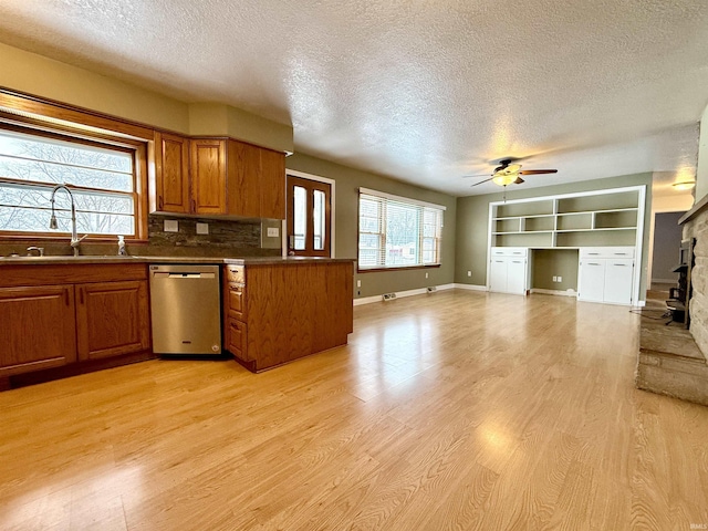
[[[706,0],[3,0],[0,41],[292,124],[295,149],[456,196],[695,175]],[[657,189],[658,190],[658,189]],[[670,190],[669,190],[670,192]]]

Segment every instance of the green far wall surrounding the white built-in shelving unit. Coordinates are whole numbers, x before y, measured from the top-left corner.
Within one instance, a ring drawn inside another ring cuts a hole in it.
[[[625,175],[621,177],[612,177],[607,179],[586,180],[582,183],[570,183],[568,185],[546,186],[542,188],[517,187],[507,190],[507,199],[524,199],[530,197],[554,196],[560,194],[573,194],[577,191],[602,190],[608,188],[621,188],[625,186],[646,185],[646,204],[644,219],[644,253],[642,257],[642,277],[639,284],[639,293],[643,294],[646,289],[646,274],[648,263],[648,239],[649,239],[649,215],[652,205],[652,174]],[[503,200],[503,194],[487,194],[485,196],[459,197],[457,199],[457,253],[455,256],[455,282],[472,285],[487,284],[487,246],[488,246],[488,225],[489,225],[489,204]],[[562,283],[554,283],[552,288],[545,288],[545,277],[548,273],[533,271],[534,275],[539,275],[538,280],[542,282],[545,289],[566,290],[568,288],[576,289],[577,285],[566,283],[566,275],[572,274],[569,262],[569,254],[559,254],[560,262],[554,264],[545,258],[545,264],[552,268],[555,273],[561,274]],[[576,269],[576,268],[575,268]],[[471,271],[468,277],[467,272]],[[563,271],[569,271],[564,273]],[[569,281],[570,282],[570,281]],[[573,281],[576,283],[576,278]],[[553,283],[552,283],[553,285]],[[559,288],[560,287],[560,288]],[[541,285],[539,285],[541,288]]]

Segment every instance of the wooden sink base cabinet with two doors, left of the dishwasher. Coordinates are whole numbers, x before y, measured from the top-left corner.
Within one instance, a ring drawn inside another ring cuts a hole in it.
[[[0,378],[45,368],[80,374],[154,357],[146,264],[3,264],[1,271]]]

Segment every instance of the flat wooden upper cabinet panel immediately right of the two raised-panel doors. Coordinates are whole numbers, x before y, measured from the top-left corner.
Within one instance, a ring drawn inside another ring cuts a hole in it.
[[[261,148],[229,140],[228,211],[233,216],[260,217]]]

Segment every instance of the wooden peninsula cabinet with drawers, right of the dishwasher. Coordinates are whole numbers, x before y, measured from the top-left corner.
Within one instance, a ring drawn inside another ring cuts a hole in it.
[[[229,268],[244,269],[244,288]],[[353,331],[351,261],[226,266],[223,277],[227,350],[251,371],[344,345]]]

